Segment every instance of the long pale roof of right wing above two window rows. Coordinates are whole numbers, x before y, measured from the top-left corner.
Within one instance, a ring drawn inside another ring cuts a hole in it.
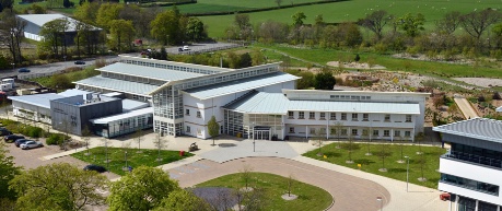
[[[290,101],[289,110],[420,115],[418,103]]]

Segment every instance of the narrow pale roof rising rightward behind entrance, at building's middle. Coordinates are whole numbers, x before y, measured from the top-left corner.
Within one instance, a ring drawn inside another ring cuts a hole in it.
[[[238,79],[235,81],[184,90],[182,92],[187,93],[190,96],[194,96],[199,99],[207,99],[232,93],[250,91],[262,86],[283,83],[288,81],[294,81],[297,79],[297,77],[284,72],[273,72],[270,74],[262,74],[247,79]]]

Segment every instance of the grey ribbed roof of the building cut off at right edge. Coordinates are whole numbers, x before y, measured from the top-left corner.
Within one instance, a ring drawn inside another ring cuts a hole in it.
[[[432,128],[433,131],[502,143],[502,121],[471,118]]]

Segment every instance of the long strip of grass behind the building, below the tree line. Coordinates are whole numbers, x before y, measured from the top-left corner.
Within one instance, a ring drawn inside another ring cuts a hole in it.
[[[325,65],[328,61],[338,61],[347,58],[353,58],[355,54],[361,56],[361,62],[365,62],[367,58],[373,58],[375,63],[386,67],[392,71],[410,71],[428,75],[439,75],[442,78],[452,77],[485,77],[485,78],[501,78],[502,70],[498,66],[481,66],[476,70],[468,65],[452,65],[434,61],[420,61],[410,59],[398,59],[390,56],[359,52],[359,51],[341,51],[335,49],[299,49],[290,48],[281,45],[256,45],[264,48],[270,48],[287,52],[293,57],[299,57],[308,61]],[[405,62],[407,66],[405,66]],[[405,69],[405,67],[407,67]]]

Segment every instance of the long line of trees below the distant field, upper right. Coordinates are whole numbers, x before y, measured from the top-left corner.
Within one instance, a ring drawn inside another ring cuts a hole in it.
[[[425,54],[430,58],[441,56],[446,60],[457,55],[502,59],[502,13],[490,8],[465,14],[448,12],[429,31],[423,27],[423,14],[395,16],[385,10],[374,11],[354,22],[326,23],[319,14],[314,17],[314,24],[305,24],[307,16],[303,12],[294,13],[291,19],[291,24],[270,20],[253,26],[248,14],[236,14],[234,24],[224,33],[229,39],[253,39],[266,44],[370,48],[380,54],[406,51]],[[372,32],[372,35],[363,36],[362,28]]]

